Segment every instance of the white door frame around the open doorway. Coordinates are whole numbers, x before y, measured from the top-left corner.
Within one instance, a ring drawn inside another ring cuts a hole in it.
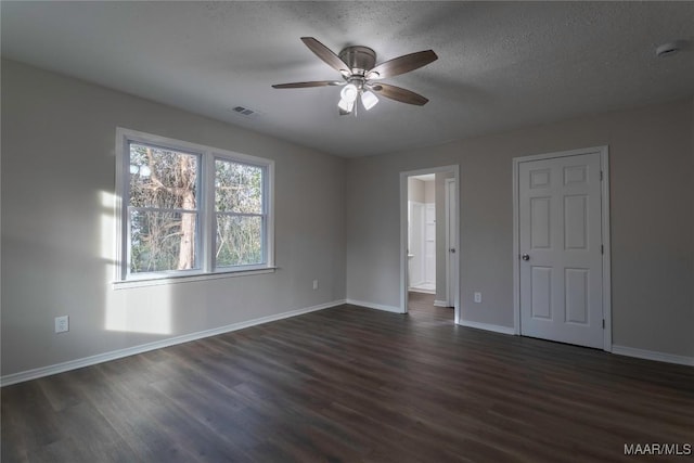
[[[458,253],[455,257],[455,269],[458,275],[455,278],[455,300],[453,301],[455,324],[460,324],[460,166],[440,166],[429,167],[425,169],[408,170],[400,172],[400,312],[408,312],[408,178],[413,176],[422,176],[425,173],[453,173],[455,180],[455,197],[458,201],[458,214],[455,217],[454,230],[459,236]]]

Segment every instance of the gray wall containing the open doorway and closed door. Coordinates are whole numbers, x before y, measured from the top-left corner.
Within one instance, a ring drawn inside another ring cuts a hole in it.
[[[347,297],[399,305],[399,172],[458,164],[462,318],[513,326],[512,158],[609,145],[613,342],[694,356],[692,118],[687,99],[349,159]]]

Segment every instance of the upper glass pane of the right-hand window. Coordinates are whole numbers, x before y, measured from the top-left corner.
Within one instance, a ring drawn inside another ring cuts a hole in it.
[[[220,213],[262,214],[262,167],[217,159],[215,207]]]

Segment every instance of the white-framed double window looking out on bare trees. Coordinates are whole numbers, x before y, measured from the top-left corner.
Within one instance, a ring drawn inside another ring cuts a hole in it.
[[[273,163],[117,129],[118,281],[272,269]]]

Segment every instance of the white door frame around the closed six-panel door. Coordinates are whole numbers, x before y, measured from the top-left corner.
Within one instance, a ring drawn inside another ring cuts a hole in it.
[[[513,158],[513,322],[514,333],[520,335],[520,220],[518,206],[519,165],[530,160],[543,160],[556,157],[578,156],[581,154],[600,154],[601,168],[601,219],[603,245],[603,350],[612,351],[612,273],[611,273],[611,243],[609,243],[609,150],[607,145],[586,147],[580,150],[562,151],[555,153],[537,154]]]

